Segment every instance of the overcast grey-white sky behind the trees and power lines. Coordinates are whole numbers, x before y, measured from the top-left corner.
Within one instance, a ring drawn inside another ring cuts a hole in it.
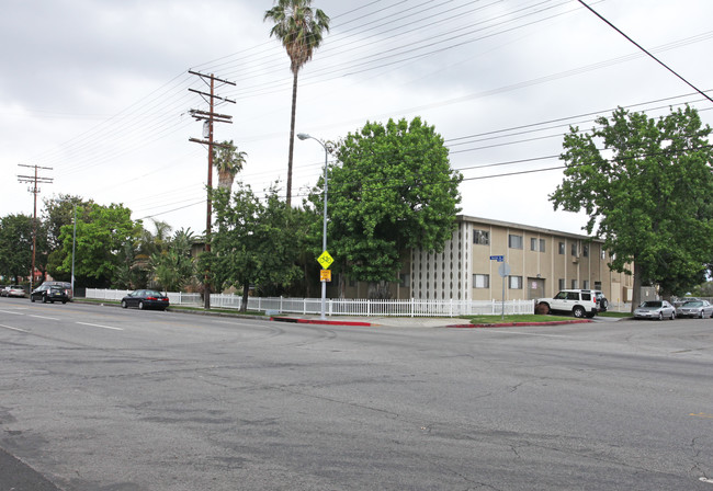
[[[697,88],[713,85],[713,2],[588,0]],[[553,210],[563,134],[616,106],[652,116],[713,104],[571,0],[314,0],[331,31],[299,75],[297,132],[338,140],[366,121],[421,116],[461,170],[463,214],[581,232]],[[248,153],[241,180],[286,181],[292,76],[262,21],[269,0],[4,0],[0,16],[0,216],[42,199],[122,203],[151,229],[205,228],[207,151],[189,110],[207,104],[189,69],[236,83],[216,139]],[[293,203],[324,150],[295,141]],[[506,175],[511,174],[511,175]],[[217,182],[217,180],[214,179]]]

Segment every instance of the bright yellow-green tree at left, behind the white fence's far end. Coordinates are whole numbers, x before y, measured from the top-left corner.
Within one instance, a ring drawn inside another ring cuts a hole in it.
[[[80,216],[87,218],[80,219]],[[116,204],[91,204],[81,213],[78,208],[75,276],[81,285],[111,285],[125,244],[138,242],[142,235],[140,221],[133,221],[131,217],[131,209]],[[71,272],[72,226],[61,228],[59,240],[63,243],[61,262],[56,272],[50,271],[53,276]]]

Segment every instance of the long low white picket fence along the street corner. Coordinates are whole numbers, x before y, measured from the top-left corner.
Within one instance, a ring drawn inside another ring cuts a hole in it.
[[[131,290],[87,288],[87,298],[118,301]],[[169,292],[171,305],[201,307],[203,301],[200,294]],[[222,309],[239,309],[239,295],[212,294],[211,307]],[[534,312],[534,300],[370,300],[328,298],[326,311],[329,316],[363,316],[363,317],[459,317],[459,316],[491,316],[528,315]],[[274,311],[280,313],[298,313],[303,316],[321,312],[319,298],[292,297],[249,297],[248,310]]]

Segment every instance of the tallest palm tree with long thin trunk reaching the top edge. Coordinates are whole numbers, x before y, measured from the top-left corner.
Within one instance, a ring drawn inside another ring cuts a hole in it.
[[[287,206],[292,202],[292,153],[295,145],[295,112],[297,109],[297,73],[312,59],[319,47],[322,32],[329,32],[329,18],[319,9],[312,8],[312,0],[275,0],[264,14],[274,26],[270,36],[282,42],[290,57],[292,71],[292,118],[290,122],[290,155],[287,157]]]

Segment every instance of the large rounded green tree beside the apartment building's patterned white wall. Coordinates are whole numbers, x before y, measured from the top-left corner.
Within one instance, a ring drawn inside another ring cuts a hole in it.
[[[462,176],[433,126],[419,117],[366,123],[340,144],[328,172],[328,250],[342,273],[370,282],[370,297],[388,298],[403,254],[441,251],[460,212]],[[315,209],[322,192],[312,194]]]

